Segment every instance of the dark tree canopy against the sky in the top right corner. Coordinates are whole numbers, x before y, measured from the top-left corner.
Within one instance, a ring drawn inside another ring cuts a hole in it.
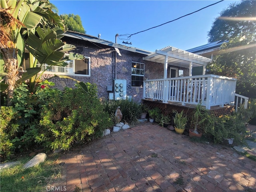
[[[256,1],[243,0],[220,12],[208,32],[208,42],[229,40],[256,32]],[[254,20],[253,20],[254,19]]]

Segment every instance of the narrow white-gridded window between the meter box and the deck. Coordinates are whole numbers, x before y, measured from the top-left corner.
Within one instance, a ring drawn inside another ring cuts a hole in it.
[[[142,87],[145,64],[132,62],[132,87]]]

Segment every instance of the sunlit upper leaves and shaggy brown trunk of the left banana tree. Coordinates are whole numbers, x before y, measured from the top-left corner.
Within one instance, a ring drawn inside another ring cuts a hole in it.
[[[35,34],[37,26],[58,26],[65,30],[64,23],[58,14],[52,12],[49,0],[1,0],[0,1],[0,48],[1,48],[1,91],[7,88],[7,105],[13,95],[18,79],[18,69],[26,38]],[[32,55],[30,55],[32,61]],[[37,69],[35,72],[38,73]],[[30,76],[33,74],[30,74]]]

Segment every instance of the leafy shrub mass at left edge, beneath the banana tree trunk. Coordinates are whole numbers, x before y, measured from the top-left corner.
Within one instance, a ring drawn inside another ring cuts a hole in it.
[[[27,84],[14,90],[12,106],[1,107],[1,160],[8,159],[14,152],[35,147],[34,137],[38,134],[40,109],[57,90],[48,86],[52,82],[39,83],[36,92],[30,93]]]

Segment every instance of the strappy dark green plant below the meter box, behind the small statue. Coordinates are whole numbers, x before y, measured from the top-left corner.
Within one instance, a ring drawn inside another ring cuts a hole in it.
[[[141,106],[139,103],[128,100],[109,100],[103,103],[104,111],[110,114],[110,118],[113,122],[117,123],[115,118],[115,112],[118,106],[122,112],[122,121],[128,122],[131,125],[134,125],[138,122],[138,117],[142,113]]]

